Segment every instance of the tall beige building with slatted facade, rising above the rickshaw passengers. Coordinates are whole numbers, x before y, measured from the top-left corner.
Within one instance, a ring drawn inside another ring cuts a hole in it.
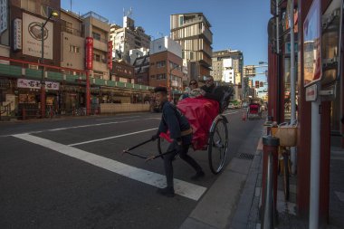
[[[171,38],[182,46],[183,65],[189,79],[203,81],[210,75],[212,66],[213,33],[203,13],[172,14]]]

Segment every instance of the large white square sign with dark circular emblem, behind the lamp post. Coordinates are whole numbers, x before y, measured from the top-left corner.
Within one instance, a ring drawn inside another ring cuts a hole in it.
[[[42,40],[44,41],[44,58],[53,60],[53,23],[45,19],[23,13],[23,54],[42,57]]]

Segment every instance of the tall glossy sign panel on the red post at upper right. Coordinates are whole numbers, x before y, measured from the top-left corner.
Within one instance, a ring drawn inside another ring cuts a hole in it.
[[[320,0],[314,0],[303,23],[303,86],[321,79]]]

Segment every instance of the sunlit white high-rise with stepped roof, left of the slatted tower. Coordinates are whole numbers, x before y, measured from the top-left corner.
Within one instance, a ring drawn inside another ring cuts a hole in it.
[[[113,56],[126,62],[130,62],[129,50],[148,49],[150,44],[150,36],[141,26],[135,27],[135,21],[129,16],[130,14],[123,16],[123,27],[118,24],[110,26]]]

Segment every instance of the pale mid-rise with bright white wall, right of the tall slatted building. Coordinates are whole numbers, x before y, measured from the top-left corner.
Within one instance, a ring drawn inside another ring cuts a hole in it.
[[[244,79],[244,54],[241,51],[222,50],[213,52],[213,71],[211,74],[217,82],[234,84],[235,99],[240,99]]]

